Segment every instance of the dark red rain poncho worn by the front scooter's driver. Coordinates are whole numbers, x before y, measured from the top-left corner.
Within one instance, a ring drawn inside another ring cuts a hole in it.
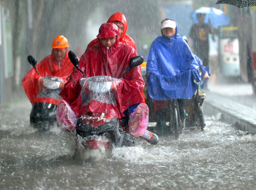
[[[116,34],[116,42],[108,50],[102,43],[90,46],[81,56],[79,67],[85,73],[85,78],[93,76],[110,76],[120,78],[122,72],[129,66],[131,57],[137,56],[134,48],[119,42],[118,27],[113,23],[105,23],[101,26],[110,26],[108,30]],[[104,31],[104,28],[103,30]],[[107,71],[106,71],[107,70]],[[64,86],[60,95],[70,104],[77,116],[92,113],[108,113],[117,118],[123,117],[123,112],[131,105],[143,101],[143,88],[145,82],[141,75],[140,67],[132,68],[123,75],[122,82],[117,85],[116,105],[94,101],[81,107],[81,85],[78,79],[82,74],[77,69],[73,71],[69,81]]]

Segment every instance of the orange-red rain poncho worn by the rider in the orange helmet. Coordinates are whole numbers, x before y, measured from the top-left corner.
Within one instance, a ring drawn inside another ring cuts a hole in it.
[[[61,77],[64,82],[67,82],[67,77],[70,76],[74,67],[68,58],[68,49],[65,57],[60,62],[56,61],[53,54],[51,54],[45,57],[35,67],[37,68],[40,75],[38,75],[35,69],[32,68],[22,80],[22,85],[26,95],[29,98],[29,101],[32,105],[35,102],[48,102],[58,105],[60,101],[57,99],[51,97],[37,97],[39,92],[38,79],[39,77],[47,76]]]

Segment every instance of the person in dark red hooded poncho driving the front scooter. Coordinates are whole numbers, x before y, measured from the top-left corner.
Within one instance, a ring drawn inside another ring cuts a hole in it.
[[[79,61],[79,67],[87,77],[110,76],[120,78],[121,74],[129,66],[129,60],[137,56],[137,52],[130,45],[119,42],[119,29],[113,23],[104,23],[99,28],[97,35],[99,43],[87,48]],[[140,127],[142,120],[148,119],[148,106],[143,102],[142,91],[145,85],[141,75],[140,67],[135,67],[123,75],[122,82],[117,88],[116,105],[108,105],[97,102],[97,105],[81,105],[80,81],[83,76],[77,69],[73,71],[69,81],[64,86],[60,95],[67,101],[77,116],[82,116],[88,112],[107,113],[119,119],[128,115],[129,127]],[[57,111],[58,112],[58,111]],[[143,113],[143,114],[142,114]],[[146,114],[145,114],[146,113]],[[145,118],[143,118],[145,117]],[[57,119],[58,120],[58,119]],[[144,125],[145,129],[147,128]],[[130,129],[130,128],[129,128]],[[130,130],[133,136],[133,132]],[[151,144],[157,143],[158,137],[147,130],[141,135]]]

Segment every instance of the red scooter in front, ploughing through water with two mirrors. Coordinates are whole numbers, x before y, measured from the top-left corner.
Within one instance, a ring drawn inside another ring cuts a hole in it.
[[[69,58],[73,65],[83,74],[78,66],[76,54],[69,51]],[[136,56],[129,61],[129,67],[122,75],[143,63],[142,56]],[[122,78],[121,75],[121,78]],[[116,104],[116,86],[122,79],[109,76],[96,76],[81,78],[81,102],[82,106],[93,102]],[[76,139],[84,149],[109,149],[112,146],[133,146],[135,139],[128,133],[128,122],[119,119],[109,113],[86,113],[79,117],[76,124]],[[122,126],[122,128],[120,127]],[[126,132],[126,131],[127,132]]]

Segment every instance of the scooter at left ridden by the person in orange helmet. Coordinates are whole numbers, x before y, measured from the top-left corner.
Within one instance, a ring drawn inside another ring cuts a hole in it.
[[[36,60],[29,55],[28,62],[36,69]],[[44,99],[42,102],[35,102],[30,113],[30,124],[39,130],[49,130],[56,122],[57,105],[50,103],[49,98],[61,100],[59,93],[64,86],[64,79],[61,77],[40,77],[38,80],[39,92],[37,97]]]

